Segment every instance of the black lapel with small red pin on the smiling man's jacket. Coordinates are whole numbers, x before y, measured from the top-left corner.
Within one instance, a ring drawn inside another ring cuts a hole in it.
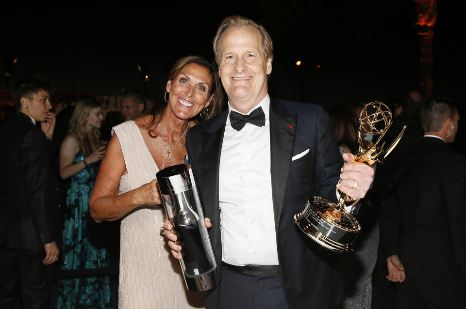
[[[293,157],[296,122],[296,114],[291,115],[279,100],[270,98],[270,174],[275,232],[277,233]]]

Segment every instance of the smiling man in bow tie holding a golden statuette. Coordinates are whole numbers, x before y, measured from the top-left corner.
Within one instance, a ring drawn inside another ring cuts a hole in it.
[[[225,18],[214,51],[229,109],[186,137],[221,269],[206,308],[332,308],[344,299],[335,254],[300,232],[293,216],[311,195],[335,201],[337,187],[363,197],[373,170],[350,163],[340,175],[343,160],[323,109],[269,97],[272,42],[262,26]]]

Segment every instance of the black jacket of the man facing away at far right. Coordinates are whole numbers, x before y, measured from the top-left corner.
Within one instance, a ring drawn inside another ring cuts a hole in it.
[[[381,203],[385,257],[397,254],[407,277],[466,282],[466,157],[424,137],[398,159]]]

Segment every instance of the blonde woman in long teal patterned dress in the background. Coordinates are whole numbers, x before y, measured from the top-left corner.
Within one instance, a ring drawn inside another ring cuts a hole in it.
[[[111,308],[109,258],[100,233],[93,229],[89,197],[105,154],[100,146],[102,107],[95,100],[77,103],[70,130],[60,148],[60,176],[70,178],[64,230],[57,308]]]

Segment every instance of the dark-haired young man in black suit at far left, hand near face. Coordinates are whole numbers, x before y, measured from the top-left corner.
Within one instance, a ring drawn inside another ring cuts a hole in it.
[[[17,84],[17,113],[0,127],[0,308],[48,308],[58,259],[60,210],[50,159],[55,116],[49,85],[39,77]],[[35,126],[41,122],[40,129]]]

